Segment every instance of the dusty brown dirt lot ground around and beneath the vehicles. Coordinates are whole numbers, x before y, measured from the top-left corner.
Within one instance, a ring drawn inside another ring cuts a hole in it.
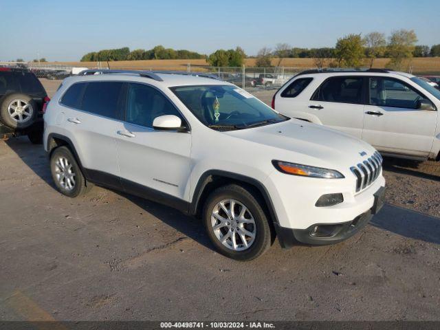
[[[98,187],[69,199],[41,146],[0,142],[0,320],[440,320],[436,173],[386,159],[360,234],[239,263],[199,220]]]

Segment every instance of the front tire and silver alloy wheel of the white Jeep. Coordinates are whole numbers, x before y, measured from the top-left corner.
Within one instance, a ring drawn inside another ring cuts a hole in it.
[[[203,207],[203,223],[214,248],[223,256],[237,261],[250,261],[270,248],[272,243],[270,225],[261,202],[254,195],[256,194],[252,194],[251,190],[243,186],[230,184],[215,189],[206,199]],[[221,206],[222,203],[225,208]],[[234,204],[234,217],[231,217],[230,211],[225,212],[230,210],[232,204]],[[243,207],[246,210],[243,217],[240,217]],[[250,234],[254,234],[254,237]]]

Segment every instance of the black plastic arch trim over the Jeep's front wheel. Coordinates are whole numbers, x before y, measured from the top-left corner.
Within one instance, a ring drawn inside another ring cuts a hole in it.
[[[259,180],[254,179],[253,177],[227,172],[224,170],[208,170],[201,175],[199,181],[197,181],[197,185],[195,186],[194,193],[192,194],[189,213],[199,216],[203,208],[203,203],[208,198],[210,192],[219,186],[224,186],[226,184],[241,184],[242,186],[254,190],[265,203],[263,208],[267,212],[267,215],[270,217],[270,219],[272,219],[272,222],[278,223],[274,203],[272,203],[269,192],[267,192],[267,189]]]

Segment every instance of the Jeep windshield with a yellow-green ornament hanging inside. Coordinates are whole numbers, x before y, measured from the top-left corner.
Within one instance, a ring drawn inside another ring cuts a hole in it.
[[[171,90],[212,129],[246,129],[289,119],[236,86],[182,86]]]

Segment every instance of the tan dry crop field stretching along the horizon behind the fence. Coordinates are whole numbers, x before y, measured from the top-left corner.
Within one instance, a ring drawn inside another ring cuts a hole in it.
[[[384,68],[386,67],[389,59],[378,58],[375,60],[374,67]],[[246,58],[245,66],[255,66],[256,58]],[[328,64],[329,61],[327,61]],[[111,69],[167,69],[167,70],[186,70],[188,63],[191,65],[192,70],[203,69],[208,63],[204,60],[146,60],[146,61],[115,61],[110,62]],[[96,62],[56,62],[48,64],[58,65],[72,65],[78,67],[96,67]],[[278,58],[272,59],[272,65],[278,64]],[[366,64],[365,64],[366,65]],[[102,66],[107,67],[107,63],[102,62]],[[312,58],[285,58],[281,61],[282,67],[298,67],[298,68],[310,68],[314,67],[314,61]],[[440,74],[440,57],[423,57],[412,58],[411,61],[407,61],[404,65],[404,70],[408,71],[409,67],[412,67],[412,72],[424,73],[424,74]]]

